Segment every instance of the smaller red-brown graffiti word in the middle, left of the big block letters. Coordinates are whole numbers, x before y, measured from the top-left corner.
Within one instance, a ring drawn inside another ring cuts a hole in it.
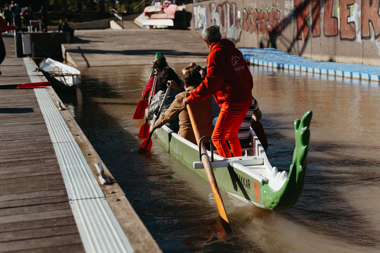
[[[244,7],[242,11],[242,30],[253,34],[260,32],[266,36],[281,35],[282,22],[279,9],[252,9]]]

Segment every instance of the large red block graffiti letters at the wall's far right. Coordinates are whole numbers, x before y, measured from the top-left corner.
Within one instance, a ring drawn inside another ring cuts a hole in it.
[[[380,0],[363,0],[361,11],[355,0],[340,0],[334,6],[334,0],[326,0],[325,8],[321,8],[320,0],[311,0],[311,19],[309,3],[306,0],[294,0],[296,7],[297,39],[307,39],[311,32],[312,36],[320,36],[320,12],[324,13],[324,33],[326,37],[340,36],[341,40],[361,42],[362,39],[369,40],[371,30],[376,39],[380,36]],[[359,31],[359,17],[361,15],[361,31]],[[372,27],[372,29],[371,29]],[[311,31],[310,31],[311,29]]]

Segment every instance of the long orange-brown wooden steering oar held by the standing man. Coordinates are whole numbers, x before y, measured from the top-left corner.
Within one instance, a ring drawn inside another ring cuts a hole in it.
[[[201,134],[199,133],[198,126],[196,125],[194,114],[193,114],[190,104],[187,104],[186,108],[190,117],[191,124],[193,126],[196,142],[199,144],[199,140],[201,139]],[[203,162],[204,170],[206,171],[207,179],[210,182],[212,194],[214,194],[214,198],[215,198],[216,205],[218,207],[220,218],[222,218],[222,220],[226,222],[225,227],[229,231],[232,231],[230,222],[228,221],[228,218],[227,218],[226,209],[224,208],[222,196],[220,195],[218,184],[215,179],[214,171],[212,170],[209,155],[207,155],[207,150],[203,142],[201,142],[200,145],[201,145],[202,162]]]

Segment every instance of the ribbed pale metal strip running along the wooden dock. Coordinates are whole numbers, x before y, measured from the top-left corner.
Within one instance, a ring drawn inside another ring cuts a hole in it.
[[[40,82],[40,73],[33,72],[30,60],[24,58],[24,63],[30,80]],[[85,251],[135,252],[51,95],[47,89],[34,89],[34,92],[54,146]],[[157,249],[158,246],[152,250]]]

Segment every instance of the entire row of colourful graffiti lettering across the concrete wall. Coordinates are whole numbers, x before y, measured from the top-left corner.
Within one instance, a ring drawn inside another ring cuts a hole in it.
[[[321,33],[359,43],[380,37],[380,0],[362,0],[361,4],[355,0],[285,0],[283,4],[283,9],[279,5],[245,6],[241,13],[234,2],[212,2],[209,8],[197,5],[193,7],[195,29],[202,29],[210,22],[218,24],[223,38],[237,42],[242,31],[280,36],[285,27],[295,21],[297,40],[318,37]]]

